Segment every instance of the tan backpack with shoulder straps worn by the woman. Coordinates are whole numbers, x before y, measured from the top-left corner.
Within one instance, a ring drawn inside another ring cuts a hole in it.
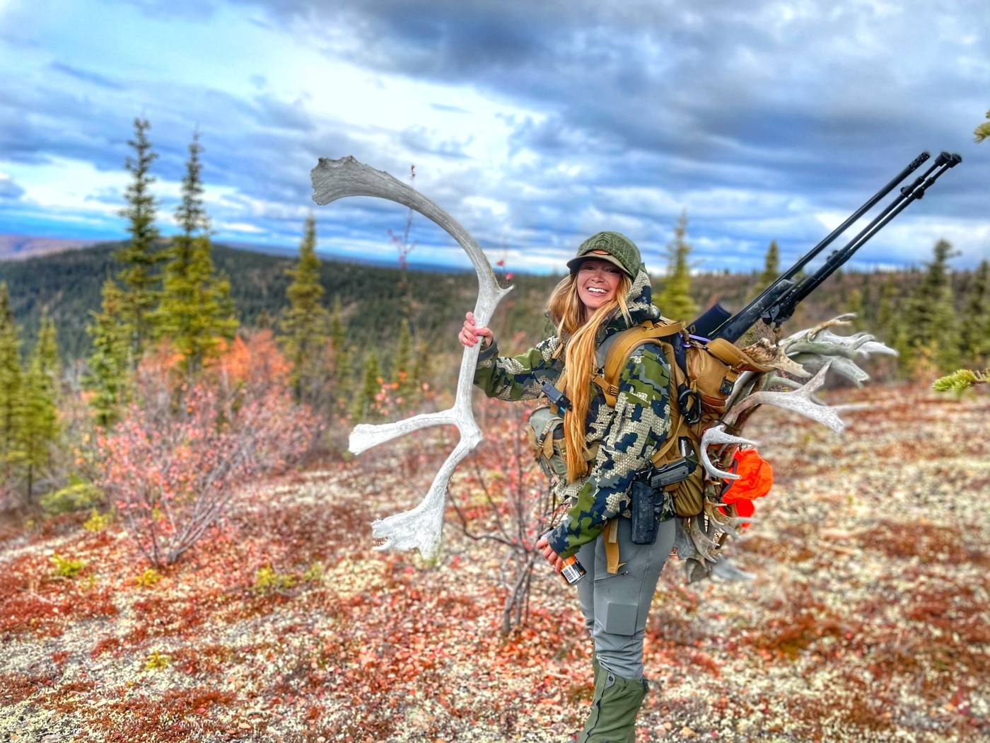
[[[743,371],[771,368],[752,361],[724,339],[701,341],[690,336],[684,323],[666,318],[647,320],[610,336],[598,348],[599,371],[592,381],[601,388],[610,407],[615,407],[623,368],[633,352],[645,344],[660,348],[670,365],[670,429],[650,465],[660,469],[682,457],[693,461],[687,478],[663,489],[673,496],[678,516],[696,516],[704,508],[704,470],[698,466],[702,435],[726,412],[726,401]],[[562,423],[553,405],[537,408],[530,418],[537,459],[547,475],[557,477],[566,474]]]

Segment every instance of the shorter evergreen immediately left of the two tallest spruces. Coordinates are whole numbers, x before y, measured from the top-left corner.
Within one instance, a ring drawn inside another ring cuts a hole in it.
[[[126,297],[112,278],[103,282],[103,304],[99,312],[91,312],[92,322],[86,327],[93,343],[89,357],[89,374],[85,385],[93,391],[90,406],[96,424],[109,427],[117,422],[121,405],[130,397],[131,335],[121,321]]]

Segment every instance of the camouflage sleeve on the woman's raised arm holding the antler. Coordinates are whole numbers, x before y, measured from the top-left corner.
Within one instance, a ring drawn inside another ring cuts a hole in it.
[[[553,336],[525,354],[508,358],[500,357],[498,346],[492,343],[478,355],[474,383],[489,397],[535,400],[542,394],[540,385],[555,382],[563,368],[562,362],[553,358],[558,345]]]

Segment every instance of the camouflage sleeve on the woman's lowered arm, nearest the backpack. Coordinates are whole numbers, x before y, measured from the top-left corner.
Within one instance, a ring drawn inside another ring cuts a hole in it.
[[[669,406],[666,357],[656,346],[642,346],[620,375],[615,415],[605,429],[591,474],[564,521],[547,536],[557,555],[573,555],[602,533],[606,521],[626,510],[633,479],[666,440]]]

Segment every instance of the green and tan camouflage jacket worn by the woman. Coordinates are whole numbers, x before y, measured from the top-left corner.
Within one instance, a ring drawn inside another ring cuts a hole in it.
[[[627,296],[634,324],[659,317],[652,305],[649,277],[641,270]],[[598,330],[597,345],[629,324],[621,313]],[[556,336],[514,358],[498,356],[497,344],[482,350],[474,383],[489,397],[503,400],[532,400],[543,392],[541,384],[556,382],[563,371],[563,354],[553,358],[561,344]],[[599,365],[603,362],[598,360]],[[589,382],[590,383],[590,382]],[[596,539],[605,523],[629,507],[629,492],[637,473],[666,439],[670,428],[670,367],[659,348],[647,344],[636,349],[619,380],[616,406],[611,408],[597,385],[588,405],[585,440],[597,443],[598,453],[587,478],[558,481],[557,494],[570,503],[566,518],[547,537],[553,551],[568,557]],[[667,495],[661,519],[673,518]]]

